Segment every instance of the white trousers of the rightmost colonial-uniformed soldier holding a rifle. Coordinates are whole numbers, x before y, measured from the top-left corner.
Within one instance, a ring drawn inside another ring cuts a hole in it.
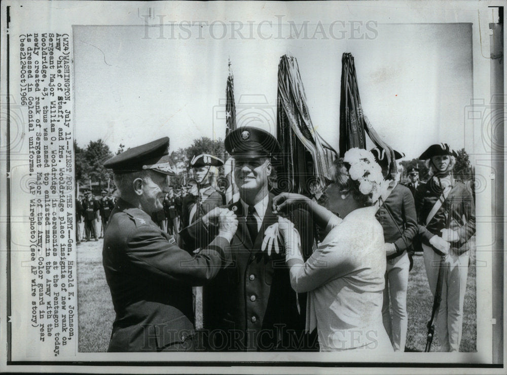
[[[434,296],[437,290],[441,256],[426,245],[422,245],[422,248],[429,288]],[[436,331],[443,352],[459,352],[467,276],[468,251],[461,255],[450,251],[444,261],[442,302],[436,323]]]

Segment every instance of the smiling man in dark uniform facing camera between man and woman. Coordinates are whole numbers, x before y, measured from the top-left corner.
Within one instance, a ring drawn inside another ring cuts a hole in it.
[[[234,177],[240,192],[240,200],[228,208],[239,223],[231,242],[232,264],[204,287],[207,344],[217,351],[314,349],[304,333],[306,293],[298,295],[292,289],[283,252],[261,250],[264,237],[278,222],[268,185],[278,142],[267,131],[240,127],[227,135],[225,148],[235,158]],[[289,218],[301,234],[302,248],[311,251],[309,214],[297,210]],[[207,214],[181,233],[202,241],[216,233],[216,226]]]

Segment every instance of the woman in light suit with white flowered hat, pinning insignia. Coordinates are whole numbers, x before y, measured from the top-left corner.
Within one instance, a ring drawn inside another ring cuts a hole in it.
[[[302,205],[327,233],[304,262],[299,234],[290,221],[279,219],[291,284],[309,293],[307,329],[317,328],[320,351],[392,352],[382,323],[386,256],[374,204],[387,186],[372,153],[354,148],[335,161],[328,189],[343,220],[303,195],[282,193],[273,200],[279,213]]]

